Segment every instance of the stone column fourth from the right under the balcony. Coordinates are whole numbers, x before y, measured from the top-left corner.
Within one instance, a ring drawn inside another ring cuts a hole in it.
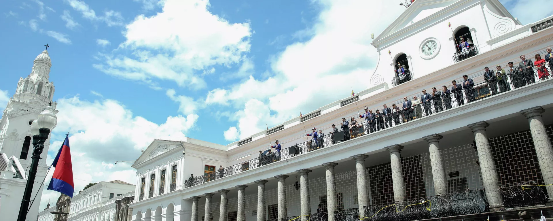
[[[403,173],[401,172],[401,145],[385,147],[390,151],[390,166],[392,167],[392,182],[394,186],[394,201],[405,200],[405,185],[403,184]]]

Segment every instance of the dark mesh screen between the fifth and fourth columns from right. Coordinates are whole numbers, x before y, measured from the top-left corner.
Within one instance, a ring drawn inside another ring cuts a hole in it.
[[[392,167],[390,163],[367,168],[367,193],[371,193],[369,203],[392,204],[394,203],[394,187],[392,182]]]

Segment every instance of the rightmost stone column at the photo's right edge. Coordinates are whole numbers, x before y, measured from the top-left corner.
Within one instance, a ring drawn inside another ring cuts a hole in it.
[[[541,106],[537,106],[522,110],[520,113],[528,119],[530,124],[534,148],[536,148],[536,155],[538,155],[538,162],[540,163],[541,176],[544,178],[545,184],[553,184],[553,150],[545,130],[544,120],[541,119],[541,113],[544,111]],[[545,186],[545,188],[547,194],[553,196],[553,186]],[[553,202],[553,199],[549,199],[548,202]]]

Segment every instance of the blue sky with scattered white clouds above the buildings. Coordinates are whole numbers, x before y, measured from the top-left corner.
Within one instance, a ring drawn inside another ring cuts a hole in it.
[[[536,7],[546,0],[500,2],[523,24],[553,13]],[[76,189],[134,183],[113,161],[154,138],[226,145],[366,89],[350,79],[375,67],[370,35],[403,11],[395,1],[6,0],[0,110],[49,43],[60,112],[48,162],[69,131]]]

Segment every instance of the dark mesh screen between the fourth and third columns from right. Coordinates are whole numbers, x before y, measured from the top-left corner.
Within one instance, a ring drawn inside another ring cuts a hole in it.
[[[425,180],[432,180],[429,153],[401,158],[401,172],[405,185],[405,199],[410,201],[426,197]],[[434,185],[429,185],[432,186]]]

